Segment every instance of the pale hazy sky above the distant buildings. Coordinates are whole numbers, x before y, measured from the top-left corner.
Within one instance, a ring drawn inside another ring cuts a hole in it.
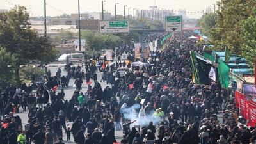
[[[117,6],[117,14],[124,15],[124,5],[139,10],[148,10],[149,6],[154,5],[160,10],[187,10],[188,12],[198,12],[205,10],[216,1],[220,0],[106,0],[104,2],[104,10],[115,13],[115,3]],[[80,0],[81,13],[83,12],[101,12],[102,5],[100,0]],[[77,13],[77,0],[46,0],[47,15],[56,16],[62,13]],[[44,15],[44,0],[0,0],[0,9],[12,8],[15,4],[26,6],[28,12],[32,16]],[[126,8],[127,10],[127,8]],[[132,10],[130,9],[132,13]],[[126,11],[126,15],[127,15]],[[189,14],[189,17],[200,17],[200,15]]]

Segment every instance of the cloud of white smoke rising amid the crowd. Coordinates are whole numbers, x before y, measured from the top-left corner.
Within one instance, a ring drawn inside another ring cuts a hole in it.
[[[120,113],[122,113],[125,119],[131,120],[131,122],[133,120],[136,120],[136,122],[134,122],[134,124],[132,125],[140,125],[140,127],[147,127],[150,122],[153,122],[153,124],[156,125],[161,121],[161,118],[153,117],[153,115],[145,116],[144,111],[141,111],[142,113],[140,112],[139,116],[139,113],[137,111],[139,111],[140,109],[143,110],[140,104],[134,104],[129,108],[125,108],[122,106],[122,108],[120,109]],[[151,111],[150,113],[153,114],[154,111]]]

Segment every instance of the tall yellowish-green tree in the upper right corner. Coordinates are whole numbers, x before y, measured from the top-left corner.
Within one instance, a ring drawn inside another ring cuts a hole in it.
[[[241,54],[241,22],[252,15],[255,0],[221,0],[221,11],[217,12],[216,28],[209,36],[217,49],[227,47],[234,54]]]

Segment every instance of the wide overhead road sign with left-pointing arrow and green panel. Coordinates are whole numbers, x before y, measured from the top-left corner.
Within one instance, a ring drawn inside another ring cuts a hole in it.
[[[122,21],[109,21],[104,20],[100,21],[99,24],[100,33],[129,33],[130,26],[129,21],[122,20]]]

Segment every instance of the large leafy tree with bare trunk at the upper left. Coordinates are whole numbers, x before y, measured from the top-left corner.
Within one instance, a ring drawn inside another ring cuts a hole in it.
[[[48,38],[39,37],[28,22],[29,13],[24,6],[0,14],[0,47],[15,57],[15,80],[20,84],[20,65],[39,60],[47,63],[54,60],[54,49]]]

